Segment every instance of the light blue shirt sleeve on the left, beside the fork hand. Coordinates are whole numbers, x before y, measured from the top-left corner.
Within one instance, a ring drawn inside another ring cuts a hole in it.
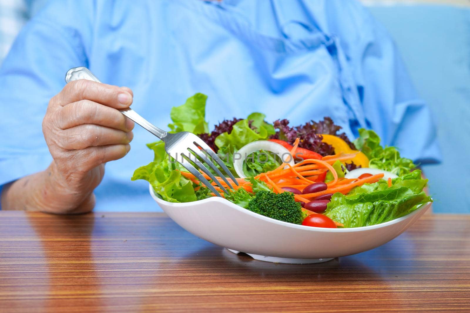
[[[67,70],[87,65],[81,34],[61,23],[67,10],[51,8],[26,24],[0,68],[0,185],[50,164],[42,134],[48,102]]]

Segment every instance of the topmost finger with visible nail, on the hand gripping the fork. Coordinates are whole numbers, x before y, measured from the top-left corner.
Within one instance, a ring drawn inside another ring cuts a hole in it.
[[[63,87],[57,95],[58,103],[65,106],[80,100],[91,100],[108,107],[122,109],[132,104],[132,95],[118,86],[79,79]]]

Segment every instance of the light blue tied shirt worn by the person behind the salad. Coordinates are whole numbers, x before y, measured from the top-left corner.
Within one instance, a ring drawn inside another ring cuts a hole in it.
[[[0,185],[47,168],[41,122],[68,69],[133,89],[157,126],[196,92],[210,125],[253,111],[292,125],[330,116],[353,138],[372,128],[421,163],[439,160],[435,129],[392,40],[350,0],[58,0],[21,31],[0,69]],[[96,210],[159,210],[133,170],[155,141],[139,126],[106,164]]]

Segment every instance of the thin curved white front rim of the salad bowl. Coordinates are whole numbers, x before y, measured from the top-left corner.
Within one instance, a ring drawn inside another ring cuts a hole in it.
[[[154,200],[157,202],[157,204],[162,203],[165,206],[188,208],[190,206],[194,206],[195,203],[205,204],[205,203],[211,203],[211,202],[218,202],[220,204],[230,206],[231,208],[233,208],[233,209],[235,209],[239,212],[242,212],[243,214],[251,215],[251,216],[253,216],[255,218],[258,218],[260,220],[263,220],[263,221],[267,221],[267,222],[282,225],[282,226],[287,226],[287,227],[294,228],[294,229],[305,229],[307,231],[313,231],[313,232],[314,231],[321,231],[321,232],[343,233],[343,232],[361,232],[361,231],[366,231],[366,230],[371,230],[371,229],[379,229],[379,228],[387,227],[387,226],[399,223],[401,221],[410,219],[413,216],[415,216],[416,214],[419,214],[421,211],[423,211],[423,210],[427,209],[429,206],[431,206],[431,202],[425,203],[425,204],[421,205],[420,207],[418,207],[415,211],[413,211],[411,213],[408,213],[408,214],[406,214],[402,217],[399,217],[397,219],[394,219],[392,221],[386,221],[384,223],[380,223],[380,224],[376,224],[376,225],[351,227],[351,228],[323,228],[323,227],[312,227],[312,226],[298,225],[298,224],[293,224],[293,223],[289,223],[289,222],[286,222],[286,221],[275,220],[273,218],[270,218],[270,217],[267,217],[267,216],[264,216],[264,215],[261,215],[261,214],[258,214],[258,213],[254,213],[250,210],[247,210],[247,209],[245,209],[241,206],[238,206],[235,203],[232,203],[232,202],[228,201],[227,199],[221,198],[221,197],[211,197],[211,198],[196,200],[196,201],[192,201],[192,202],[169,202],[169,201],[165,201],[161,198],[158,198],[157,195],[155,194],[155,191],[153,190],[153,187],[152,187],[151,184],[149,184],[149,191],[150,191],[150,195],[152,196],[152,198],[154,198]]]

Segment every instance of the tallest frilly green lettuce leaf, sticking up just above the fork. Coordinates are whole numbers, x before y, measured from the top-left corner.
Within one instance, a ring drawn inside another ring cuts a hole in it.
[[[172,107],[170,117],[173,123],[168,124],[172,132],[189,131],[194,134],[209,132],[205,121],[205,104],[207,96],[196,93],[188,98],[186,103],[179,107]]]

